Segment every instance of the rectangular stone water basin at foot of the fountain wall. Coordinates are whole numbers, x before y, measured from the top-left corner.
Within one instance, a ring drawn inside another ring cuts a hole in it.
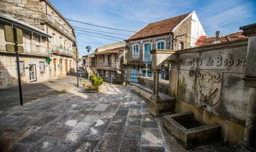
[[[197,122],[192,112],[164,116],[164,128],[186,149],[213,142],[220,134],[218,124]]]

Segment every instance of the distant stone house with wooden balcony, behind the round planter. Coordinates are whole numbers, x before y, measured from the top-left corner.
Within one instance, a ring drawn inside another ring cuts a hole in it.
[[[98,47],[89,58],[91,67],[90,73],[97,73],[105,78],[110,78],[111,74],[113,77],[120,76],[122,73],[122,63],[125,62],[125,52],[126,44],[124,42],[114,42]],[[86,63],[88,57],[87,55],[83,57],[85,58]]]

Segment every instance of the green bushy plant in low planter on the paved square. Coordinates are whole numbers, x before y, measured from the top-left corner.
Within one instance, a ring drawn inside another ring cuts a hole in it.
[[[83,92],[85,93],[98,93],[100,92],[100,86],[103,84],[103,78],[96,76],[95,74],[90,75],[90,82],[84,82],[83,86],[87,86]]]

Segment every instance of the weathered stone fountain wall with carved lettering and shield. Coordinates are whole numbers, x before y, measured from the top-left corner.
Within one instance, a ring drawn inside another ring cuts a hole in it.
[[[197,121],[219,124],[221,138],[243,140],[247,102],[247,39],[179,50],[176,112],[192,111]],[[174,86],[175,87],[175,86]]]

